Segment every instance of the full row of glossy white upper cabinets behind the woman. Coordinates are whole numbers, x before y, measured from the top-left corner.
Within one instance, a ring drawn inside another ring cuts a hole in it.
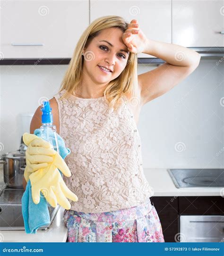
[[[0,0],[0,59],[71,58],[89,22],[107,15],[137,19],[155,41],[224,47],[223,0]]]

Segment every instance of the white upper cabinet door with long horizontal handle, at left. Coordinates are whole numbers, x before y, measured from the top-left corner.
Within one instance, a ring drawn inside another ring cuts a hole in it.
[[[89,25],[88,0],[0,1],[4,58],[70,58]]]

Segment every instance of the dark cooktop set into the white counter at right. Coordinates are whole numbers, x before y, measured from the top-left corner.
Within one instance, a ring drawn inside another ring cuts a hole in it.
[[[224,169],[167,169],[180,187],[224,187]]]

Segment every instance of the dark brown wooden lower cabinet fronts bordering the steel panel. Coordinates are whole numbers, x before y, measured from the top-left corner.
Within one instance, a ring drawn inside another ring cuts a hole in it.
[[[221,196],[152,196],[150,200],[159,215],[165,242],[178,241],[180,215],[224,216]]]

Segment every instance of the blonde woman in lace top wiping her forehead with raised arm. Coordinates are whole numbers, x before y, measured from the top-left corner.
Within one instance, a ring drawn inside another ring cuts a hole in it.
[[[137,75],[137,53],[166,62]],[[137,20],[105,16],[86,28],[50,100],[54,124],[71,150],[65,161],[72,176],[64,181],[78,196],[64,212],[69,242],[164,242],[143,173],[138,117],[199,60],[188,48],[146,38]],[[39,107],[30,132],[40,126]]]

